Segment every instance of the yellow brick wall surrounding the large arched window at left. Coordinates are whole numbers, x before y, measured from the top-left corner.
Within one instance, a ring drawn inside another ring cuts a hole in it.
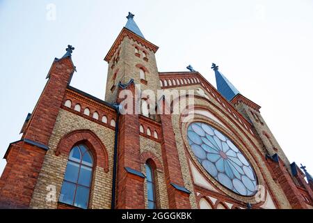
[[[96,167],[93,173],[93,190],[90,194],[89,208],[111,208],[112,171],[113,171],[113,148],[115,132],[102,125],[94,123],[60,109],[54,130],[49,139],[49,151],[45,155],[42,170],[35,185],[31,208],[57,208],[63,177],[65,174],[67,157],[61,153],[56,156],[55,151],[62,137],[74,130],[88,129],[93,131],[102,141],[109,155],[109,172],[105,173],[101,167]],[[56,187],[56,202],[46,201],[48,194],[47,186]]]

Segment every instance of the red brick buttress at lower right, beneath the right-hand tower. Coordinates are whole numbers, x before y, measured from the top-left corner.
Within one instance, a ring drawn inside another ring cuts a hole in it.
[[[284,194],[294,209],[306,209],[307,206],[303,201],[303,198],[294,183],[294,180],[291,178],[289,171],[284,167],[284,163],[278,157],[277,160],[268,159],[268,163],[275,174],[278,183],[284,190]]]

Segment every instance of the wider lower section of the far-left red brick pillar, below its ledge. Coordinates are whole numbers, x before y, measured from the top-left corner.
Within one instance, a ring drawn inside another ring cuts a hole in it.
[[[0,180],[0,208],[29,208],[45,153],[24,141],[11,146]]]

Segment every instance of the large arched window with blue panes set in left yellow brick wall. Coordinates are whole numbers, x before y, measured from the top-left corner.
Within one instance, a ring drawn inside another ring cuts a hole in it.
[[[67,161],[59,200],[79,208],[88,208],[92,176],[93,156],[89,149],[83,144],[74,146]]]

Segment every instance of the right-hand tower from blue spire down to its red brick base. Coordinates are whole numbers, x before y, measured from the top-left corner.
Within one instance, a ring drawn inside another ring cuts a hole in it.
[[[271,169],[274,171],[274,178],[280,183],[289,201],[292,201],[291,206],[294,208],[305,208],[303,197],[307,195],[301,194],[297,185],[302,185],[308,194],[312,194],[312,191],[306,183],[303,183],[304,176],[298,174],[302,172],[295,163],[290,164],[278,141],[275,139],[270,128],[268,128],[268,125],[266,125],[259,111],[261,107],[241,95],[232,83],[218,70],[216,64],[212,63],[211,68],[216,75],[218,91],[252,124],[253,132],[255,132],[262,142],[262,154],[266,157]],[[306,171],[305,173],[310,184],[310,174],[307,175]]]

